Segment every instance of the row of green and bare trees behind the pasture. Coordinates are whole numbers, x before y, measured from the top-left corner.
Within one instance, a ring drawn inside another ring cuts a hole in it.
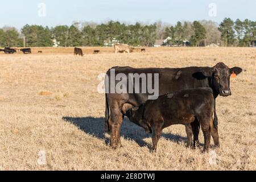
[[[201,20],[177,22],[175,25],[156,22],[154,24],[73,23],[72,26],[43,27],[26,24],[20,31],[14,27],[0,28],[0,47],[22,47],[23,36],[26,47],[51,47],[53,40],[60,47],[106,46],[126,43],[131,46],[154,46],[156,39],[166,39],[168,44],[179,45],[184,40],[191,46],[255,46],[256,22],[249,19],[233,21],[225,18],[220,24]]]

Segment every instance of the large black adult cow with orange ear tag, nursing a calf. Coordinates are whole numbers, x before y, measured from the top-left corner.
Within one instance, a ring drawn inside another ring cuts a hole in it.
[[[230,96],[230,76],[232,73],[238,75],[242,72],[242,68],[229,68],[224,63],[218,63],[214,67],[188,67],[188,68],[143,68],[135,69],[131,67],[114,67],[115,74],[122,73],[129,77],[129,74],[134,73],[151,73],[159,74],[159,95],[175,92],[178,90],[205,88],[209,87],[213,90],[214,98],[220,96]],[[111,70],[107,72],[110,77]],[[107,81],[107,79],[106,79]],[[117,83],[115,83],[117,84]],[[142,85],[140,80],[139,86]],[[110,85],[106,84],[106,88]],[[140,89],[140,88],[133,88]],[[141,89],[140,89],[141,90]],[[125,112],[133,107],[138,107],[148,100],[150,93],[112,93],[106,90],[106,122],[105,131],[110,131],[110,146],[117,148],[121,146],[120,128],[122,125]],[[217,130],[217,114],[214,106],[214,127]],[[199,143],[198,135],[200,123],[195,120],[191,125],[187,125],[187,130],[192,130],[194,135],[194,146]]]

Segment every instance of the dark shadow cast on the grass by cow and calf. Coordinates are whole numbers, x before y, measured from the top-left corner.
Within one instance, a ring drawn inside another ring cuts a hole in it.
[[[109,143],[109,138],[104,134],[104,122],[105,118],[72,118],[72,117],[63,117],[64,121],[70,122],[73,125],[79,127],[86,134],[93,135],[99,139],[104,139],[105,143]],[[146,134],[141,127],[131,123],[129,119],[124,119],[121,128],[121,136],[126,140],[134,140],[139,144],[139,146],[151,147],[151,143],[145,142],[143,139],[150,138],[151,134]],[[171,133],[163,133],[162,137],[171,140],[172,142],[180,143],[187,142],[187,138],[181,137],[180,135],[174,135]]]

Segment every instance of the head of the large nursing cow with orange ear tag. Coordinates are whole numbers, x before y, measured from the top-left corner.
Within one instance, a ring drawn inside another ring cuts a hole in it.
[[[213,68],[206,68],[202,70],[202,73],[206,77],[212,77],[212,89],[220,94],[220,96],[231,96],[230,90],[230,76],[232,74],[240,74],[242,68],[234,67],[229,68],[224,63],[218,63]]]

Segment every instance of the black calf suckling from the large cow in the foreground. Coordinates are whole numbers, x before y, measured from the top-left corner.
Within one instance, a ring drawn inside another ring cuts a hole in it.
[[[163,129],[171,125],[191,125],[197,119],[204,133],[203,152],[208,152],[211,134],[214,144],[220,145],[218,133],[213,126],[214,103],[212,89],[188,89],[165,94],[157,100],[148,100],[140,107],[128,110],[125,115],[147,133],[153,133],[153,151],[156,151]],[[192,135],[190,130],[188,146],[192,142]]]

